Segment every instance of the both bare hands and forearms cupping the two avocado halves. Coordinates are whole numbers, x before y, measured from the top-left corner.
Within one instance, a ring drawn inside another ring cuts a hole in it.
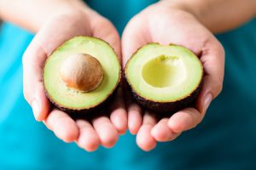
[[[23,58],[24,94],[36,119],[43,121],[60,139],[75,141],[89,151],[96,150],[100,144],[113,146],[119,134],[125,133],[127,123],[131,133],[137,134],[137,144],[143,150],[152,150],[157,142],[176,139],[180,133],[199,124],[212,99],[220,93],[224,78],[224,49],[212,32],[240,26],[256,11],[254,0],[246,3],[239,0],[161,1],[145,8],[128,23],[121,49],[119,35],[113,25],[79,0],[22,1],[26,5],[20,5],[18,0],[9,2],[0,2],[3,20],[37,32]],[[122,95],[118,94],[109,105],[110,116],[99,116],[91,122],[73,121],[67,113],[57,109],[50,111],[42,85],[42,65],[56,47],[77,35],[100,37],[109,42],[119,56],[123,55],[123,65],[137,48],[147,42],[175,43],[191,49],[201,59],[205,71],[195,108],[156,119],[149,111],[143,112],[127,96],[127,122]]]

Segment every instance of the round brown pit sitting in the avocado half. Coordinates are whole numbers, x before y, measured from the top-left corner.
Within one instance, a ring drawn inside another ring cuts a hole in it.
[[[100,62],[90,54],[73,54],[61,64],[59,76],[68,88],[90,92],[102,83],[104,72]]]

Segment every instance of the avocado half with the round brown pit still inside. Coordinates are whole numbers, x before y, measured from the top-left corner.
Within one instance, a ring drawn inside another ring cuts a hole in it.
[[[119,59],[108,42],[73,37],[45,61],[43,81],[61,111],[88,112],[106,103],[119,85]]]

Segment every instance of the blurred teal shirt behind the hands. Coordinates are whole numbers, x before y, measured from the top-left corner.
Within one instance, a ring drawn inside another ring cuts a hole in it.
[[[121,33],[155,1],[90,0]],[[33,35],[4,23],[0,31],[0,170],[13,169],[256,169],[256,20],[218,35],[226,51],[223,93],[204,121],[150,151],[126,133],[112,149],[88,153],[65,144],[36,122],[22,94],[22,54]]]

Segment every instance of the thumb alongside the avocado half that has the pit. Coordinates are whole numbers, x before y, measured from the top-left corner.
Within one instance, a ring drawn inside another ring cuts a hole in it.
[[[35,38],[23,55],[23,93],[32,106],[37,121],[45,120],[49,113],[49,100],[44,93],[42,67],[47,55]]]

